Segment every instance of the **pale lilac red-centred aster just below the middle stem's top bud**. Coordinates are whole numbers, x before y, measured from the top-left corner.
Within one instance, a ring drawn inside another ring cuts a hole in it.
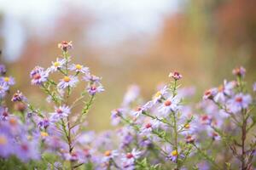
[[[179,100],[176,97],[170,97],[166,99],[159,107],[160,114],[168,116],[172,111],[177,111]]]

